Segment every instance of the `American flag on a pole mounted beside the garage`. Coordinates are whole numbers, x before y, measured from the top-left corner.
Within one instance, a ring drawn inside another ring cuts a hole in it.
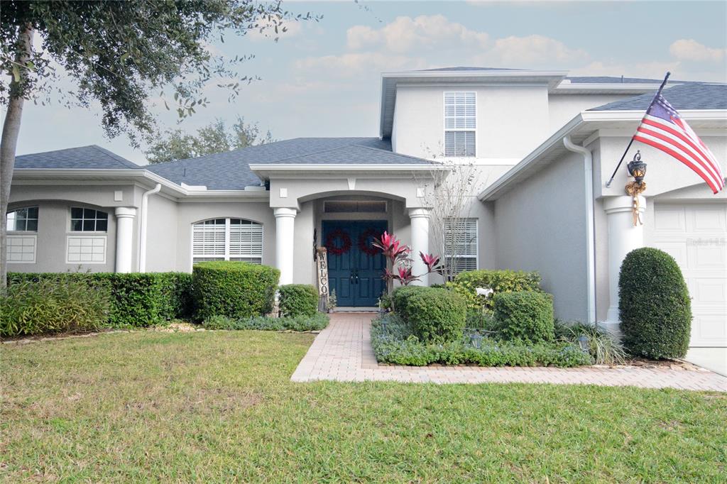
[[[646,110],[634,140],[677,158],[702,177],[712,192],[718,193],[724,188],[725,179],[717,158],[661,92],[656,94],[654,102]]]

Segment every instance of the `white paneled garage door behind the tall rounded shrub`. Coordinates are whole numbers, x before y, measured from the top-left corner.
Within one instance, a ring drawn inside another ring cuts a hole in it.
[[[693,347],[727,347],[727,204],[656,203],[654,246],[681,267]]]

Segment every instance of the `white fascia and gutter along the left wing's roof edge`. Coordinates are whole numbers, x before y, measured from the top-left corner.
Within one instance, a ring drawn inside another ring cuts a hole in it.
[[[158,174],[145,169],[54,169],[54,168],[23,168],[15,169],[13,177],[18,180],[51,180],[58,177],[71,177],[78,180],[79,177],[87,177],[89,180],[129,180],[134,182],[146,181],[150,187],[161,184],[165,193],[174,197],[189,198],[269,198],[270,194],[252,190],[188,190],[174,182],[160,177]],[[140,180],[141,179],[141,180]]]

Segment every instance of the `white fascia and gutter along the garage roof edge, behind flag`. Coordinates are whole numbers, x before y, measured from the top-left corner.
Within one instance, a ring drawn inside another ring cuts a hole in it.
[[[715,121],[715,126],[720,126],[724,121],[727,121],[727,110],[724,109],[685,109],[679,111],[680,115],[688,121]],[[519,178],[519,175],[533,164],[537,159],[550,150],[554,145],[561,145],[563,143],[563,137],[571,134],[579,129],[582,129],[589,123],[598,123],[603,121],[612,121],[614,123],[618,121],[628,121],[630,123],[638,122],[643,118],[644,110],[623,110],[623,111],[582,111],[576,117],[571,119],[565,126],[558,129],[555,134],[549,137],[545,142],[539,145],[535,150],[523,158],[523,161],[516,164],[505,172],[502,177],[499,177],[492,185],[482,190],[477,198],[481,201],[492,200],[497,197],[507,185],[514,182]],[[595,132],[596,128],[593,128]]]

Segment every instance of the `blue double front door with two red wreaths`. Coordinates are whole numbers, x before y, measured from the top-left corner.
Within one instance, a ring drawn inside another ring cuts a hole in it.
[[[387,230],[385,220],[324,220],[321,242],[328,248],[328,280],[337,305],[376,306],[386,283],[386,259],[371,241]]]

